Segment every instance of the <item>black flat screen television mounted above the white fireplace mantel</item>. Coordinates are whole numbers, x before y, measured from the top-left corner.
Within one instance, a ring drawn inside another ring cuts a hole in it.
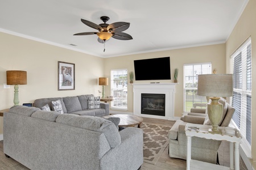
[[[135,80],[170,80],[170,57],[134,60]]]

